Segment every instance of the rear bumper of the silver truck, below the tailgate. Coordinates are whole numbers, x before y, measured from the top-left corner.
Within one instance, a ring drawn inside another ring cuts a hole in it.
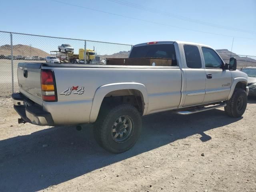
[[[44,111],[42,106],[26,100],[22,94],[12,94],[12,101],[14,109],[24,121],[40,126],[54,125],[52,115],[49,112]]]

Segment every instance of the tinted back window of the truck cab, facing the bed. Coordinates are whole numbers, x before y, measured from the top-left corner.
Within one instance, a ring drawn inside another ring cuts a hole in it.
[[[177,65],[174,44],[154,44],[132,48],[129,58],[168,58]]]

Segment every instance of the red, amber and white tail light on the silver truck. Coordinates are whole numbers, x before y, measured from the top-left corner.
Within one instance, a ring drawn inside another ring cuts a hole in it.
[[[54,73],[52,70],[41,70],[41,90],[42,99],[48,102],[57,101],[57,92]]]

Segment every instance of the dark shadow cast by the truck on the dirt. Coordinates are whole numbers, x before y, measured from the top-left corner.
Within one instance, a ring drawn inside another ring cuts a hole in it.
[[[230,118],[222,110],[190,116],[171,112],[145,116],[140,139],[122,154],[100,148],[94,141],[92,125],[79,132],[74,126],[58,126],[1,140],[0,190],[42,190],[194,134],[202,135],[200,140],[207,142],[211,137],[205,131],[240,119]]]

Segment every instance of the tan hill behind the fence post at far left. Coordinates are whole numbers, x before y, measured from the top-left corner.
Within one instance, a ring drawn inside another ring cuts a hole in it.
[[[11,55],[11,46],[10,45],[3,45],[0,46],[0,55]],[[38,48],[34,48],[32,46],[28,45],[14,45],[13,46],[13,55],[14,56],[38,56],[38,57],[47,57],[50,56],[50,54],[46,53],[43,50],[40,50]]]

